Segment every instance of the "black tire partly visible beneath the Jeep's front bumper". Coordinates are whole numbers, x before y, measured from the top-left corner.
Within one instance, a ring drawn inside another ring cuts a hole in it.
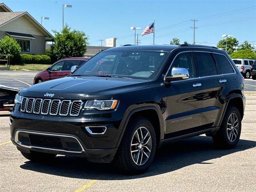
[[[21,154],[28,160],[36,162],[50,161],[56,157],[56,154],[42,153],[36,151],[30,151],[30,153],[21,152]]]

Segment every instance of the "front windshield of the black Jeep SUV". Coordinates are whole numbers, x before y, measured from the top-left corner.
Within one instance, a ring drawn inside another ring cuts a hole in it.
[[[156,76],[168,52],[104,51],[92,57],[71,76],[106,76],[150,79]]]

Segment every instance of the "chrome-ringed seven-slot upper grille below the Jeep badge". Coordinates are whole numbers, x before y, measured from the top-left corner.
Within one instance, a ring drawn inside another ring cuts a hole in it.
[[[80,100],[51,100],[24,97],[20,111],[40,115],[78,116],[82,105],[83,102]]]

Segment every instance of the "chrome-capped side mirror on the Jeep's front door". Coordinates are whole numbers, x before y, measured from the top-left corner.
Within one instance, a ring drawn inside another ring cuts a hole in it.
[[[172,68],[171,76],[164,78],[164,81],[170,83],[171,81],[184,80],[189,78],[188,69],[186,68]]]

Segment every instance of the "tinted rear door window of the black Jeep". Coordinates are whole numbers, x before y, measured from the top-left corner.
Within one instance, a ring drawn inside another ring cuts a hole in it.
[[[210,53],[195,52],[198,60],[198,72],[200,77],[216,75],[217,70]]]

